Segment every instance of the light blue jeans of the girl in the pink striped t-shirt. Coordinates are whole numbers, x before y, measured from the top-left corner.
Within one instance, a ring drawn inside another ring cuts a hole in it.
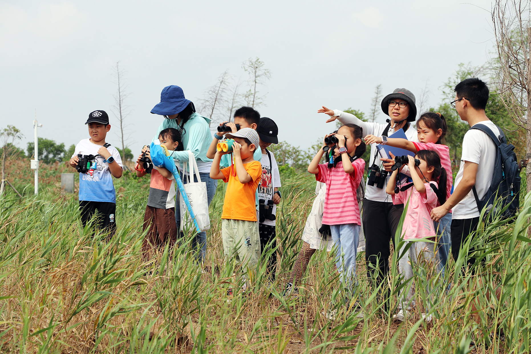
[[[330,225],[332,240],[336,247],[336,266],[339,280],[347,288],[353,286],[353,276],[356,274],[356,255],[359,243],[358,224]]]

